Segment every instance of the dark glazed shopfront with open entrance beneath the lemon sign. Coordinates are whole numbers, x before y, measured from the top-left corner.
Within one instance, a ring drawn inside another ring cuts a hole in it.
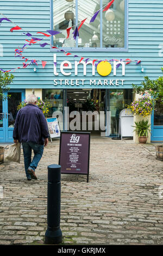
[[[109,135],[110,137],[118,136],[119,127],[119,116],[122,109],[126,108],[133,100],[133,90],[132,89],[44,89],[43,90],[43,100],[49,101],[52,104],[51,111],[49,112],[49,117],[54,116],[55,111],[60,111],[64,115],[65,107],[68,107],[68,118],[71,121],[76,118],[75,112],[80,114],[80,117],[76,119],[74,126],[77,127],[74,131],[83,131],[82,127],[86,126],[86,130],[91,132],[91,136],[101,136],[102,130],[100,129],[101,121],[104,125],[106,122],[110,122]],[[106,111],[110,111],[110,119],[106,118]],[[73,113],[72,113],[73,112]],[[96,112],[97,115],[92,116],[89,119],[89,114],[87,114],[86,119],[83,119],[83,112]],[[72,114],[71,114],[72,113]],[[103,113],[103,115],[102,115]],[[100,115],[101,118],[100,118]],[[80,120],[79,120],[80,119]],[[83,125],[83,122],[86,124]],[[68,130],[65,126],[65,117],[60,121],[60,129]],[[89,124],[92,122],[92,126]],[[73,126],[73,127],[74,127]],[[80,130],[79,130],[80,127]],[[97,127],[99,129],[97,130]],[[69,126],[69,130],[71,127]],[[104,132],[104,130],[103,130]],[[107,134],[107,133],[106,133]]]

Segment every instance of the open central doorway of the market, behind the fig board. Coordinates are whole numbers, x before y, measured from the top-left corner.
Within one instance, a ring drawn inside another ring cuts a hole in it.
[[[105,89],[67,89],[67,107],[70,130],[105,136]]]

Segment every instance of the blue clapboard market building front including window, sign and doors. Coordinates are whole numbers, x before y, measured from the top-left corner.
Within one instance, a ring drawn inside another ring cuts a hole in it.
[[[64,113],[66,106],[71,111],[80,111],[83,102],[96,101],[101,111],[111,111],[110,131],[106,132],[106,136],[117,134],[118,114],[133,99],[132,84],[141,84],[145,76],[156,79],[162,74],[163,3],[162,0],[115,0],[106,14],[103,9],[108,2],[1,1],[1,14],[15,25],[6,21],[1,24],[0,68],[20,69],[13,72],[15,79],[10,85],[11,99],[0,104],[0,142],[12,142],[18,102],[32,90],[43,100],[48,99],[53,103],[51,115],[56,110]],[[98,10],[96,20],[90,23]],[[86,21],[79,29],[79,36],[74,40],[72,32],[84,19]],[[22,30],[11,33],[10,28],[16,25]],[[66,29],[69,27],[72,29],[67,39]],[[47,30],[60,33],[49,37],[37,33],[49,34]],[[24,60],[15,57],[15,49],[22,48],[27,43],[26,39],[31,39],[25,35],[27,32],[42,40],[23,51],[23,57],[35,59],[37,65],[23,68]],[[40,44],[45,42],[48,45],[41,47]],[[97,65],[92,64],[95,59],[95,64],[99,60],[104,61],[99,63],[99,70]],[[116,66],[118,60],[121,62],[119,68]],[[42,61],[46,62],[45,68]],[[110,69],[108,74],[104,74],[106,63],[109,63],[109,68],[106,68]],[[84,109],[90,110],[89,107]],[[62,128],[67,129],[65,119]],[[163,141],[161,106],[158,112],[153,112],[151,129],[151,141]]]

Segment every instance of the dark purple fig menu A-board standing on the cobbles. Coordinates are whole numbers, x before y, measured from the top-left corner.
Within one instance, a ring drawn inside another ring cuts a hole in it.
[[[61,173],[85,174],[89,182],[90,132],[61,132],[59,164]]]

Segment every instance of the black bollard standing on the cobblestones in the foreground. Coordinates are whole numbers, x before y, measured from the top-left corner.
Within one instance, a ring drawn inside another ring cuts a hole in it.
[[[51,164],[48,166],[48,192],[47,192],[47,230],[45,244],[61,243],[60,229],[60,200],[61,200],[61,166]]]

